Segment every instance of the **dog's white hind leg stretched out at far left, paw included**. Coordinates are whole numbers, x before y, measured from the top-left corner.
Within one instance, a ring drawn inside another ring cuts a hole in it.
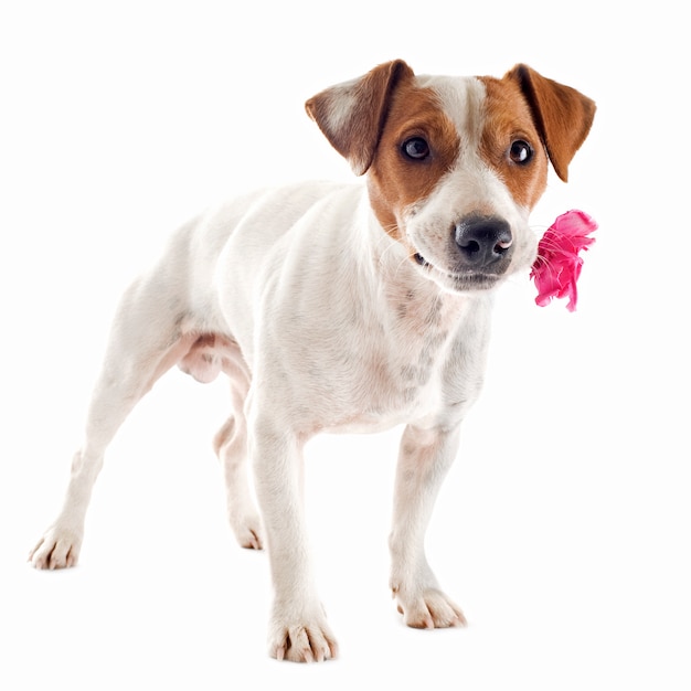
[[[29,555],[38,568],[76,564],[86,510],[106,447],[136,403],[195,339],[181,333],[180,311],[171,310],[168,300],[170,295],[152,276],[135,283],[120,301],[62,510]]]

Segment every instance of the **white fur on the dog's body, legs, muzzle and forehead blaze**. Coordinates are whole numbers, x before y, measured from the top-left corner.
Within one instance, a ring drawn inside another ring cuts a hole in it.
[[[461,104],[470,98],[465,82],[439,86],[447,100],[449,93]],[[480,99],[477,87],[470,92]],[[469,134],[468,123],[457,127]],[[509,219],[522,246],[511,272],[524,267],[534,251],[525,210],[512,203],[477,150],[460,157],[403,220],[410,241],[444,267],[435,237],[471,211],[477,194]],[[301,503],[301,450],[323,430],[407,425],[395,486],[391,586],[408,625],[464,624],[427,564],[424,535],[457,451],[460,422],[481,387],[492,293],[454,291],[432,270],[383,231],[360,183],[262,191],[183,226],[121,300],[64,508],[32,563],[76,563],[106,447],[137,401],[178,363],[200,381],[223,371],[232,384],[233,414],[216,449],[240,543],[268,548],[273,656],[336,655],[312,578]],[[198,341],[200,336],[208,338]],[[261,512],[248,489],[247,456]]]

